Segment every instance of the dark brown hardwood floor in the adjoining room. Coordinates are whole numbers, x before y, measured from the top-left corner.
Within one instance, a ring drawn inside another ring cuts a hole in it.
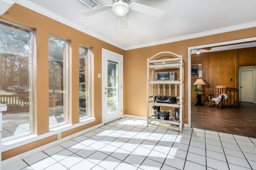
[[[239,107],[220,109],[218,105],[208,107],[191,105],[193,128],[237,134],[256,138],[256,105],[240,102]]]

